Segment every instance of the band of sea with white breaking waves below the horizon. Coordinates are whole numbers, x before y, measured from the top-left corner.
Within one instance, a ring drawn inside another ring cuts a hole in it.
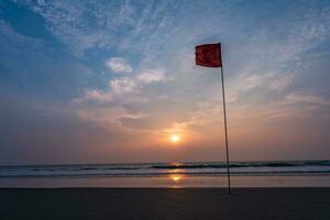
[[[233,175],[330,174],[330,161],[299,162],[233,162]],[[166,174],[222,175],[226,163],[168,163],[168,164],[94,164],[1,166],[0,177],[23,176],[143,176]]]

